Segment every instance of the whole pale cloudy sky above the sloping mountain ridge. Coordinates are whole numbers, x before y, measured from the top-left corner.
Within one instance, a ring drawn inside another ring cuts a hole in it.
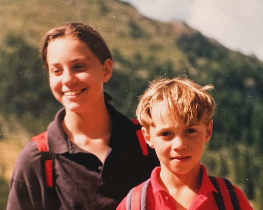
[[[183,20],[225,47],[263,61],[263,0],[123,0],[159,21]]]

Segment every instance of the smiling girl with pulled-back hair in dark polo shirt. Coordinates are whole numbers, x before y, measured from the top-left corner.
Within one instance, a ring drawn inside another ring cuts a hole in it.
[[[105,100],[111,53],[100,34],[81,23],[47,32],[41,53],[64,108],[20,153],[7,209],[115,209],[158,163],[149,148],[143,155],[131,120]]]

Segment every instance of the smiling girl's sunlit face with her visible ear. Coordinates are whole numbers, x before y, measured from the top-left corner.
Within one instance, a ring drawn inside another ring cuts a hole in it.
[[[112,74],[112,60],[104,64],[84,42],[57,38],[47,48],[50,88],[55,98],[74,112],[104,103],[103,84]]]

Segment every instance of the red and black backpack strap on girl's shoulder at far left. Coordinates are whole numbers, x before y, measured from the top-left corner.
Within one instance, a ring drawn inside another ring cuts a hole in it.
[[[44,163],[42,167],[45,168],[46,186],[53,188],[53,158],[49,152],[47,131],[33,137],[32,141],[37,144],[37,148],[41,152],[41,162]]]

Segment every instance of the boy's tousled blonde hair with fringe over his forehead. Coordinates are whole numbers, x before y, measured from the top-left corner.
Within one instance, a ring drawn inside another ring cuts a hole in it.
[[[136,115],[142,126],[154,126],[151,118],[152,107],[164,101],[169,116],[174,122],[190,126],[193,123],[208,123],[214,114],[215,102],[210,90],[213,85],[204,87],[186,78],[162,79],[153,81],[140,96]]]

